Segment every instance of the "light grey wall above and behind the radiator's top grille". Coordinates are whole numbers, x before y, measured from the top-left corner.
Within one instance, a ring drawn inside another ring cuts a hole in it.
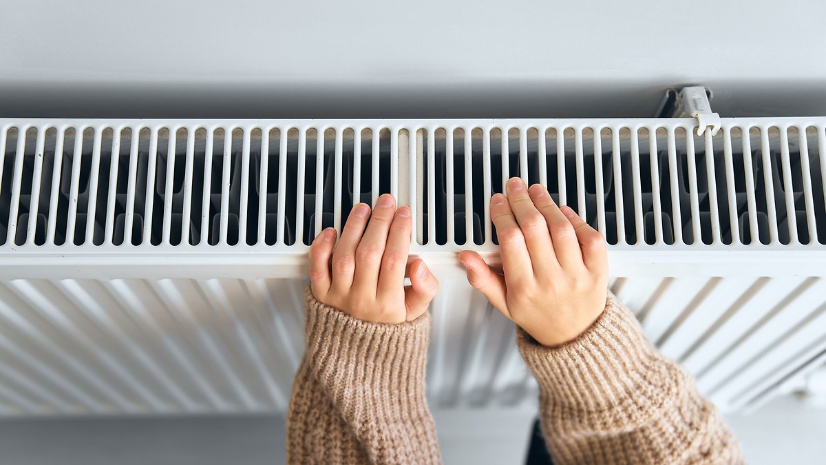
[[[0,116],[826,114],[822,0],[2,3]]]

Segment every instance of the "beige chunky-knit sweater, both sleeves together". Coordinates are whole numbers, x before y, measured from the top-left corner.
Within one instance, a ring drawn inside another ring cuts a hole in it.
[[[287,415],[290,463],[439,463],[425,403],[430,315],[373,324],[306,290],[306,352]],[[553,462],[743,463],[691,376],[662,357],[613,295],[579,338],[545,348],[517,329],[539,381]]]

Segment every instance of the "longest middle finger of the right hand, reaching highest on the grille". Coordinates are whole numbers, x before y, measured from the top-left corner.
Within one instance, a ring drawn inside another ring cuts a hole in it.
[[[525,245],[528,247],[535,271],[548,256],[553,255],[548,223],[545,223],[542,213],[539,213],[534,202],[531,201],[525,181],[521,178],[510,178],[507,189],[510,210],[514,213],[516,223],[519,224],[522,235],[525,237]]]

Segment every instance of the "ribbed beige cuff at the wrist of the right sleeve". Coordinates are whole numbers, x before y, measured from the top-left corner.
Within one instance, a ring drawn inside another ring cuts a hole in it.
[[[522,357],[539,382],[540,395],[559,415],[586,414],[605,421],[624,407],[644,412],[681,389],[668,362],[648,342],[634,315],[609,295],[605,311],[591,328],[570,343],[546,348],[517,328]],[[603,415],[600,418],[600,415]]]

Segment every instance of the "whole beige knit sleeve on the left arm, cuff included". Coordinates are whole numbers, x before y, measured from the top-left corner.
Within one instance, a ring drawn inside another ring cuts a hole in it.
[[[289,463],[439,463],[425,402],[430,314],[370,323],[306,289],[305,352],[287,414]]]

